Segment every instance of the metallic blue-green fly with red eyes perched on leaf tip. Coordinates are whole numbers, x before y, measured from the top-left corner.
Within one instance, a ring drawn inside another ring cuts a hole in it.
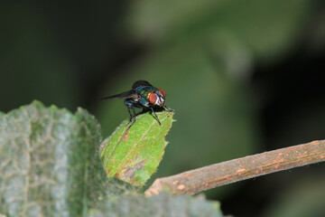
[[[135,108],[144,109],[144,111],[150,109],[150,113],[154,115],[159,125],[162,124],[153,109],[163,108],[167,111],[172,111],[172,109],[168,109],[165,106],[165,92],[162,89],[154,88],[153,85],[146,80],[137,80],[132,86],[132,90],[102,98],[102,100],[105,99],[125,99],[127,111],[130,114],[129,127],[135,123],[135,118],[137,116]]]

